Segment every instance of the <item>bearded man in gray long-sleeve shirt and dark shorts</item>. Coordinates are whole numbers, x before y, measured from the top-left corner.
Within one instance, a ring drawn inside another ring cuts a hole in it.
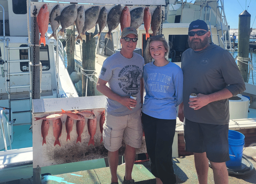
[[[178,112],[181,121],[185,116],[185,150],[194,152],[199,184],[207,183],[208,159],[215,184],[227,184],[228,98],[245,91],[245,83],[232,55],[209,44],[211,32],[204,21],[191,22],[188,31],[190,49],[181,59],[183,103]],[[191,93],[197,97],[189,98]]]

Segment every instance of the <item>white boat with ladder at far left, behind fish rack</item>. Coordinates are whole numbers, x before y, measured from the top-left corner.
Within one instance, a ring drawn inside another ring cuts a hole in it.
[[[40,78],[40,99],[78,97],[59,40],[46,39],[45,46],[35,43],[41,74],[33,76],[35,54],[30,52],[34,46],[30,32],[34,30],[29,20],[26,0],[0,1],[0,183],[16,179],[5,174],[8,168],[23,170],[33,163],[32,96],[33,86],[38,85],[35,81]],[[11,155],[16,159],[8,160]]]

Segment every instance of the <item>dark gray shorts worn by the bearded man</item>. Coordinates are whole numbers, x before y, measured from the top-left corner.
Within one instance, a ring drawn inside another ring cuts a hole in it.
[[[206,152],[211,162],[229,160],[228,124],[213,125],[184,121],[185,150],[193,153]]]

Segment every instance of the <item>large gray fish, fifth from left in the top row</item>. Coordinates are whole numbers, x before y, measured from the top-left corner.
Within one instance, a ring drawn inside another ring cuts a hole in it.
[[[96,22],[99,18],[100,7],[93,6],[85,11],[85,26],[83,27],[83,31],[81,32],[81,38],[86,42],[85,32],[95,32]]]

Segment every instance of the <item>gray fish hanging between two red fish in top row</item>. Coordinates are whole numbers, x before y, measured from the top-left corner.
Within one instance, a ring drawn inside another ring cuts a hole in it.
[[[142,24],[143,22],[143,17],[144,17],[144,8],[143,7],[139,7],[139,8],[135,8],[133,9],[130,14],[131,14],[131,27],[138,29],[139,26]]]

